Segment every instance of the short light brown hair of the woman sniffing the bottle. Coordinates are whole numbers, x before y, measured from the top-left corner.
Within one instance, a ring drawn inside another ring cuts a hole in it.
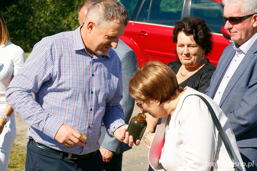
[[[183,88],[172,69],[159,61],[150,61],[137,69],[129,82],[129,92],[134,99],[159,100],[161,104],[177,98]]]

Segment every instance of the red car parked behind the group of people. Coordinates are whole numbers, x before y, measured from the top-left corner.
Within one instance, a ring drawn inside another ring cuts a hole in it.
[[[231,43],[222,20],[221,0],[119,0],[127,8],[130,22],[120,39],[135,51],[138,65],[149,60],[167,64],[177,60],[172,41],[174,21],[184,16],[205,19],[213,31],[214,48],[208,57],[217,65],[222,51]]]

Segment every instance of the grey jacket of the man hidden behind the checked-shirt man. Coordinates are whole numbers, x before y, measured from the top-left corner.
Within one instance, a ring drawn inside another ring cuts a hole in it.
[[[135,52],[121,40],[119,40],[117,48],[113,50],[117,53],[122,62],[123,98],[120,101],[120,104],[124,111],[125,123],[128,124],[135,105],[135,100],[131,98],[128,88],[129,81],[136,70],[136,66],[138,65],[137,59]],[[120,142],[115,137],[111,138],[106,133],[104,124],[102,124],[99,143],[103,148],[113,151],[114,155],[131,149],[131,147],[123,142]]]

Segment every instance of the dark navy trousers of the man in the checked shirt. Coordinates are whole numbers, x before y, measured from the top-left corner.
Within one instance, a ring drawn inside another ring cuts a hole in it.
[[[25,171],[102,171],[101,153],[85,159],[62,158],[61,155],[27,144]]]

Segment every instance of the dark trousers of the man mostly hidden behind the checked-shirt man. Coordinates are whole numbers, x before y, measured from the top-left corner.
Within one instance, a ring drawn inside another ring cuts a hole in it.
[[[104,171],[121,171],[123,153],[113,155],[108,163],[104,162]]]

